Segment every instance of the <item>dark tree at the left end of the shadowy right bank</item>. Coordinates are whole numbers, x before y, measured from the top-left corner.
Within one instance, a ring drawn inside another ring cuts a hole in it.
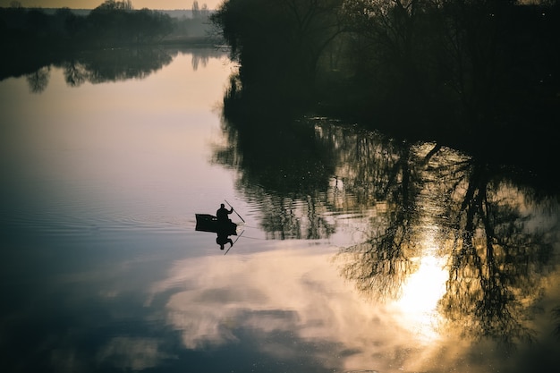
[[[229,0],[210,16],[242,63],[243,90],[276,85],[284,97],[307,97],[318,61],[344,30],[344,0]]]

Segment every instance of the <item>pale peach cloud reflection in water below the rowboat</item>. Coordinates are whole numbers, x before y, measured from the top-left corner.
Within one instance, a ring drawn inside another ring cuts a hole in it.
[[[365,300],[337,274],[332,257],[333,252],[286,246],[225,259],[184,259],[152,293],[174,290],[167,322],[181,331],[187,349],[242,343],[239,335],[249,332],[259,338],[259,353],[276,359],[297,355],[303,341],[327,346],[316,351],[325,368],[410,369],[420,353],[411,346],[422,335],[397,322],[412,319],[404,314],[405,299]],[[279,343],[286,335],[291,343]]]

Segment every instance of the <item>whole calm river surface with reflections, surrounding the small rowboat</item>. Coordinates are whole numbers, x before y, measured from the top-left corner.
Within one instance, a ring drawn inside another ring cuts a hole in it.
[[[557,196],[326,118],[248,130],[225,53],[136,57],[0,81],[2,371],[560,366]],[[195,230],[225,200],[230,250]]]

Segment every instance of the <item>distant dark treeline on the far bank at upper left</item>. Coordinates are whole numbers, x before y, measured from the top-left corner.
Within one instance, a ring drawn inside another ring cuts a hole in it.
[[[195,2],[196,3],[196,2]],[[197,3],[198,6],[198,3]],[[147,8],[134,10],[130,0],[106,0],[88,15],[62,8],[55,13],[22,7],[0,8],[0,43],[5,51],[39,48],[122,47],[160,42],[166,37],[201,37],[208,11],[192,19],[173,19]]]

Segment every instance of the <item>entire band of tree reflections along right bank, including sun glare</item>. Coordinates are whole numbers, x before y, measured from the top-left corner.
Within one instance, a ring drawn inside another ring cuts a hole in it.
[[[440,334],[532,340],[553,269],[556,223],[546,216],[556,199],[450,148],[310,123],[300,123],[297,147],[285,132],[268,142],[262,127],[224,124],[228,143],[214,161],[239,168],[268,238],[325,239],[340,228],[336,216],[366,219],[365,238],[336,256],[359,291],[432,312]]]

